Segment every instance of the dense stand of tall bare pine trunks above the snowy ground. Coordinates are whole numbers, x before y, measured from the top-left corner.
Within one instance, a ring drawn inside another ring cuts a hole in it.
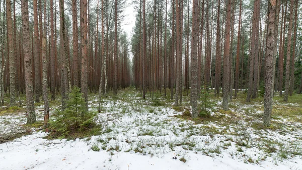
[[[273,91],[284,101],[301,93],[298,0],[133,1],[131,37],[122,29],[129,3],[1,1],[2,104],[9,95],[11,106],[22,105],[26,93],[33,123],[34,102],[44,100],[47,122],[48,93],[51,100],[59,96],[64,109],[71,87],[78,86],[88,109],[88,92],[101,98],[133,85],[142,98],[159,91],[174,105],[190,93],[196,118],[202,89],[222,94],[225,110],[246,90],[247,102],[264,96],[269,125]]]

